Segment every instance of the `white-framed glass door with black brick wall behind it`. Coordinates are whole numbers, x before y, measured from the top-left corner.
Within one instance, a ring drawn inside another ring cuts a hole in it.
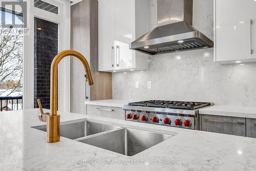
[[[29,34],[25,36],[24,108],[50,109],[51,62],[60,51],[70,49],[70,2],[33,0],[29,3]],[[70,111],[70,59],[59,65],[58,109]]]

